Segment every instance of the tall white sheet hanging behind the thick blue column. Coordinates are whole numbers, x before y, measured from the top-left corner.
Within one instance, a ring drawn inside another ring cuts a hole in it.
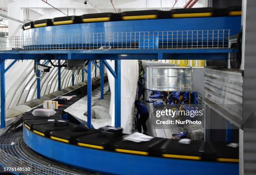
[[[109,61],[110,66],[115,70],[115,61]],[[108,82],[110,84],[111,100],[110,110],[111,126],[115,126],[115,79],[108,72]],[[121,127],[123,132],[131,133],[131,118],[134,101],[136,97],[138,80],[138,60],[121,60]]]

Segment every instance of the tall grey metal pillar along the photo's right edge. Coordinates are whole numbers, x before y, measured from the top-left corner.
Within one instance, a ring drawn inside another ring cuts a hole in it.
[[[256,174],[256,1],[243,0],[242,64],[243,81],[243,142],[239,155],[241,175]],[[254,147],[251,147],[254,145]]]

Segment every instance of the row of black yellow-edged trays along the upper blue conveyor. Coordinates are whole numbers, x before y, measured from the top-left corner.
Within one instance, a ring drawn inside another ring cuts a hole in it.
[[[146,20],[163,18],[198,18],[198,17],[220,17],[241,16],[241,7],[230,7],[223,9],[214,8],[186,8],[163,10],[138,10],[122,13],[94,13],[81,16],[65,16],[53,19],[38,20],[23,25],[23,30],[30,28],[46,27],[51,25],[67,25],[75,23],[92,23],[120,20]]]

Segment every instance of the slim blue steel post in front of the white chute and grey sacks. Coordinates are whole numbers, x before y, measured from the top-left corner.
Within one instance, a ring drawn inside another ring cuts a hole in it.
[[[92,109],[92,61],[89,60],[89,63],[87,66],[87,126],[88,127],[92,127],[91,109]]]

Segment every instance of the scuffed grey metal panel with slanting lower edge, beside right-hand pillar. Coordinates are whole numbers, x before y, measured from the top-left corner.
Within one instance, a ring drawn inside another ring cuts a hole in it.
[[[243,124],[243,71],[205,67],[205,104],[241,128]]]

